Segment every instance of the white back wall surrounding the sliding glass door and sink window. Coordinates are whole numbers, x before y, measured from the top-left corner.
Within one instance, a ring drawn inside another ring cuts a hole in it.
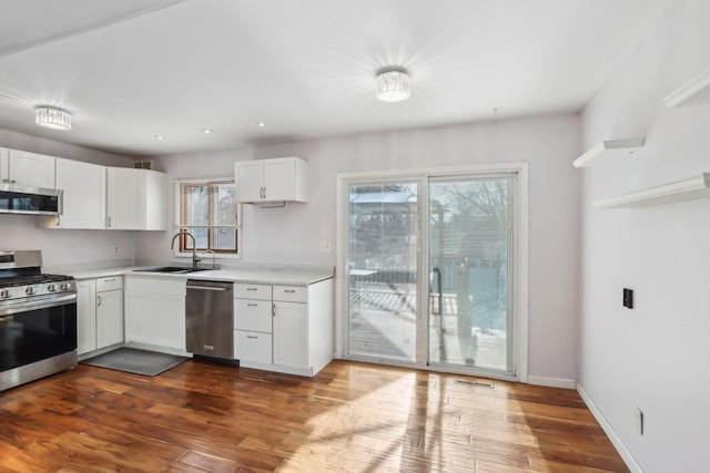
[[[560,115],[165,156],[159,162],[178,178],[231,174],[237,160],[305,158],[308,204],[244,206],[243,261],[333,266],[335,254],[321,254],[320,243],[335,243],[337,172],[528,161],[529,372],[576,379],[579,174],[571,161],[579,151],[578,116]],[[169,225],[172,219],[171,214]],[[170,259],[171,236],[140,235],[138,258]]]

